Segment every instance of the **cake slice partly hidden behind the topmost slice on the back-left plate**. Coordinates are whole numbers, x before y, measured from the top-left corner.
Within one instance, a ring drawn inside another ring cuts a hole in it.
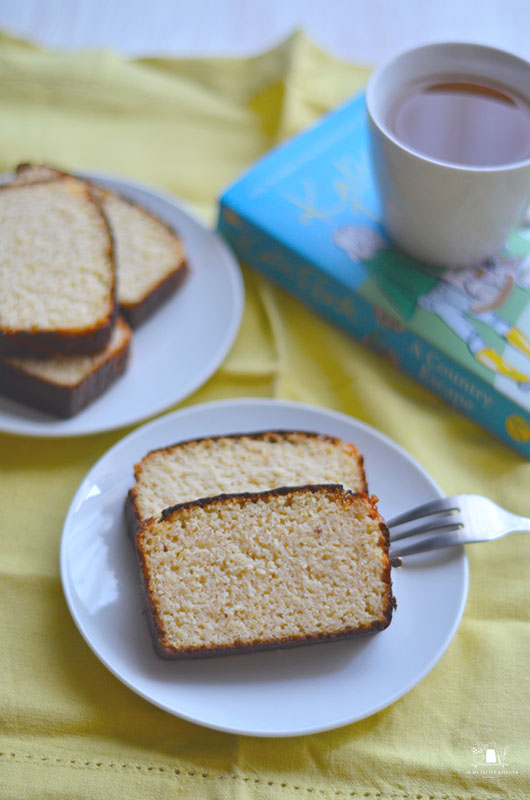
[[[17,182],[53,180],[66,173],[20,164]],[[71,177],[71,176],[70,176]],[[160,219],[114,192],[91,185],[109,221],[118,270],[118,303],[136,328],[179,287],[187,266],[181,239]]]

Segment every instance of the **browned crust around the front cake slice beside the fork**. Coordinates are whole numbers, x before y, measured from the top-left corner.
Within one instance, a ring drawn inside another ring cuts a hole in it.
[[[391,562],[389,558],[390,535],[385,521],[380,516],[377,510],[377,498],[370,498],[365,492],[350,492],[345,491],[340,484],[313,484],[308,486],[282,486],[277,489],[271,489],[266,492],[241,492],[237,494],[222,494],[216,497],[201,498],[193,502],[179,503],[171,508],[165,509],[161,520],[171,517],[179,509],[201,507],[213,503],[230,503],[234,500],[242,504],[247,501],[267,499],[278,495],[286,495],[298,492],[322,492],[326,491],[328,494],[333,494],[340,502],[352,503],[355,498],[364,498],[372,508],[372,515],[374,519],[379,521],[380,540],[379,545],[385,553],[385,567],[383,571],[383,582],[387,586],[387,602],[383,614],[370,625],[357,626],[355,628],[346,627],[328,633],[312,633],[304,636],[285,637],[278,639],[256,640],[240,644],[235,642],[230,646],[216,646],[216,647],[194,647],[186,649],[176,649],[167,642],[163,626],[160,623],[159,615],[156,607],[156,599],[153,596],[150,580],[149,569],[147,567],[145,556],[142,551],[142,539],[148,535],[148,532],[156,520],[147,520],[140,528],[136,540],[136,556],[140,568],[140,584],[144,605],[146,609],[147,622],[153,647],[157,655],[166,660],[180,660],[180,659],[193,659],[193,658],[212,658],[214,656],[236,655],[240,653],[258,652],[263,650],[275,650],[291,647],[299,647],[302,645],[319,644],[322,642],[337,641],[340,639],[352,639],[360,636],[365,636],[370,633],[376,633],[387,628],[392,621],[392,613],[396,608],[396,601],[392,594],[392,579],[391,579]]]

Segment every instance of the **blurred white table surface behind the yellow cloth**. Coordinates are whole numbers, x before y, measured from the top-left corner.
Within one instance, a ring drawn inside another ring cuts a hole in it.
[[[530,0],[0,0],[0,29],[51,48],[133,56],[251,55],[302,29],[365,64],[441,39],[530,58]]]

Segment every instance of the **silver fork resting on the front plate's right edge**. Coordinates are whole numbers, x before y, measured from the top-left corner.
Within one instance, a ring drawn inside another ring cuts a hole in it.
[[[415,521],[418,521],[417,525],[410,525]],[[530,531],[530,519],[512,514],[478,494],[456,494],[433,500],[399,514],[387,525],[390,529],[390,557],[394,559],[455,544],[490,542],[509,533]]]

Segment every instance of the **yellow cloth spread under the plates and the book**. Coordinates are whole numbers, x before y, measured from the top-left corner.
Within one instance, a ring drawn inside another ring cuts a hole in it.
[[[246,60],[128,60],[1,38],[0,169],[42,160],[108,171],[172,191],[212,223],[227,183],[367,75],[302,35]],[[185,404],[254,395],[346,412],[393,437],[447,493],[484,493],[530,516],[530,465],[520,456],[294,299],[244,276],[237,341]],[[215,732],[119,682],[63,598],[65,513],[91,465],[126,432],[0,436],[2,798],[530,796],[529,536],[469,549],[462,624],[433,671],[394,705],[302,738]],[[481,762],[486,747],[503,754],[498,768]]]

